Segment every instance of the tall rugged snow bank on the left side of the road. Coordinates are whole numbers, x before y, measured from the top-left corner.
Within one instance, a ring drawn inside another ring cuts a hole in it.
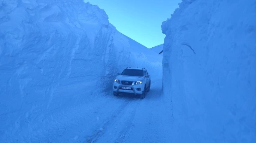
[[[124,67],[161,68],[131,54],[105,12],[82,0],[1,0],[0,27],[1,142],[27,142],[51,128],[109,92]]]

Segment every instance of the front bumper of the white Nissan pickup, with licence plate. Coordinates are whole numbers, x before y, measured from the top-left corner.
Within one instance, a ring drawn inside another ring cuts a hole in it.
[[[131,89],[122,89],[122,87],[130,87]],[[135,95],[137,94],[142,94],[142,90],[144,90],[144,88],[142,88],[142,84],[137,84],[137,85],[125,85],[125,84],[119,84],[114,82],[113,83],[113,91],[117,92],[117,93],[133,93]],[[140,89],[140,90],[138,90]]]

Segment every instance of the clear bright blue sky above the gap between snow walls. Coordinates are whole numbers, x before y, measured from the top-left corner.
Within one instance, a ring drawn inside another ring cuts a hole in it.
[[[104,9],[118,31],[152,48],[164,43],[161,24],[181,0],[84,0]]]

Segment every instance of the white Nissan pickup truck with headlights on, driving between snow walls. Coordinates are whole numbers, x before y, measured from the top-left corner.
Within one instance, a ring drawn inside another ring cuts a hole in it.
[[[127,67],[116,76],[113,83],[114,96],[119,93],[134,93],[140,98],[145,98],[146,92],[150,91],[150,75],[145,68]]]

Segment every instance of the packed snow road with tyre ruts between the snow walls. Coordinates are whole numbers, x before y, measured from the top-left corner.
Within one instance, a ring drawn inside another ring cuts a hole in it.
[[[171,112],[161,97],[162,80],[152,80],[144,99],[110,96],[72,109],[49,125],[36,142],[168,142]]]

